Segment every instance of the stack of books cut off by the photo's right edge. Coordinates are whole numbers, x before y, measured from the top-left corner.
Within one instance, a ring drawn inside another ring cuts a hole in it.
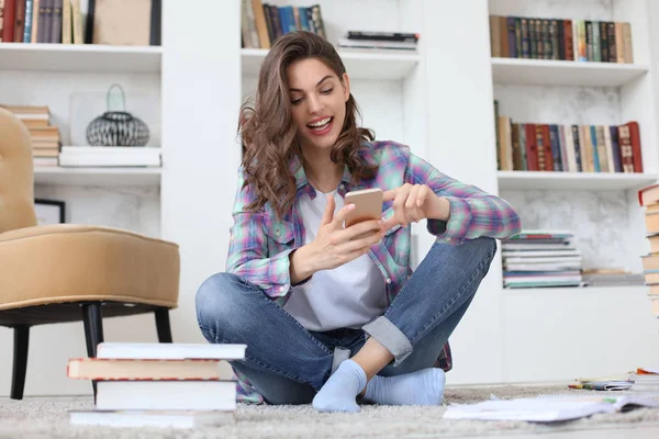
[[[645,283],[649,285],[652,314],[659,317],[659,184],[638,191],[638,203],[645,209],[649,251],[641,257]]]

